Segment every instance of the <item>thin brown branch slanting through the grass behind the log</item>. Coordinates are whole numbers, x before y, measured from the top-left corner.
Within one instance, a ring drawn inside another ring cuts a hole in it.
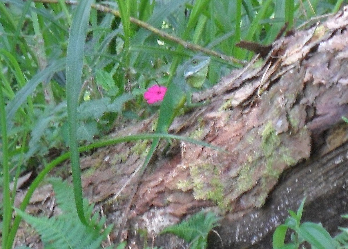
[[[33,1],[34,2],[42,2],[42,3],[58,3],[58,0],[33,0]],[[65,3],[66,4],[70,4],[70,5],[77,5],[79,3],[79,1],[66,0]],[[112,14],[114,16],[120,17],[120,12],[118,10],[106,7],[105,5],[92,4],[92,8],[94,8],[94,9],[96,9],[98,11],[104,12],[104,13],[110,13],[110,14]],[[232,56],[224,55],[223,53],[219,53],[219,52],[216,52],[216,51],[213,51],[213,50],[210,50],[210,49],[206,49],[204,47],[201,47],[200,45],[193,44],[193,43],[181,40],[180,38],[177,38],[174,35],[171,35],[171,34],[168,34],[166,32],[163,32],[163,31],[159,30],[158,28],[155,28],[155,27],[149,25],[148,23],[145,23],[145,22],[143,22],[143,21],[141,21],[139,19],[136,19],[134,17],[130,17],[129,21],[131,23],[134,23],[134,24],[136,24],[136,25],[138,25],[138,26],[140,26],[142,28],[145,28],[145,29],[151,31],[152,33],[157,34],[161,38],[164,38],[164,39],[167,39],[169,41],[173,41],[173,42],[175,42],[177,44],[180,44],[184,48],[191,49],[191,50],[194,50],[194,51],[200,51],[200,52],[206,53],[208,55],[219,57],[219,58],[221,58],[223,60],[227,60],[227,61],[230,61],[230,62],[233,62],[233,63],[242,64],[242,65],[246,64],[246,62],[243,61],[243,60],[238,60],[238,59],[236,59],[236,58],[234,58]]]

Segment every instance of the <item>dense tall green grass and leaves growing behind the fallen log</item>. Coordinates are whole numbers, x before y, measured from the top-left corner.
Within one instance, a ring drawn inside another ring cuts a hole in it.
[[[252,58],[239,41],[271,44],[286,23],[313,25],[347,2],[0,0],[2,248],[12,247],[21,219],[11,222],[10,180],[39,172],[24,210],[44,176],[71,156],[77,215],[91,225],[78,150],[139,139],[95,142],[157,110],[143,99],[149,86],[167,85],[182,60],[205,53],[209,88]]]

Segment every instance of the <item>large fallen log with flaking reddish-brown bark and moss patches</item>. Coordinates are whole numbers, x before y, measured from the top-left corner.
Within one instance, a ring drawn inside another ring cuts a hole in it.
[[[261,67],[235,70],[193,96],[210,104],[177,118],[171,131],[228,153],[180,142],[177,153],[159,156],[142,181],[124,231],[131,248],[143,247],[139,231],[147,231],[150,245],[185,247],[175,236],[157,234],[202,208],[224,217],[218,229],[223,248],[270,248],[275,226],[305,195],[305,218],[331,231],[341,224],[330,222],[339,220],[348,201],[347,144],[339,148],[348,139],[341,119],[348,114],[347,24],[345,8],[323,24],[275,41]],[[114,135],[151,130],[147,120]],[[103,207],[115,234],[132,184],[120,194],[119,189],[147,147],[146,141],[124,143],[82,159],[84,191]],[[210,243],[222,248],[213,234]]]

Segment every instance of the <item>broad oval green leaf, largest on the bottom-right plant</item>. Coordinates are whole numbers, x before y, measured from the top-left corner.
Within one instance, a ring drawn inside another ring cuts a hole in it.
[[[317,249],[332,249],[334,241],[321,224],[304,222],[298,229],[299,235]]]

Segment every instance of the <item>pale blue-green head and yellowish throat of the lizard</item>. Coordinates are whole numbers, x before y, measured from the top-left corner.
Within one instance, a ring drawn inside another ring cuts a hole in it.
[[[207,77],[209,63],[209,56],[197,55],[183,65],[184,77],[191,87],[200,88],[203,85]]]

